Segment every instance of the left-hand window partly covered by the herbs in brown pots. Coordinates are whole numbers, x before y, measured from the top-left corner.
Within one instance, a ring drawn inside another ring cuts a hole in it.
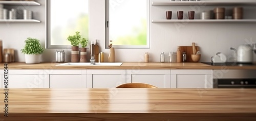
[[[46,48],[70,48],[68,36],[80,32],[88,39],[89,0],[46,0]]]

